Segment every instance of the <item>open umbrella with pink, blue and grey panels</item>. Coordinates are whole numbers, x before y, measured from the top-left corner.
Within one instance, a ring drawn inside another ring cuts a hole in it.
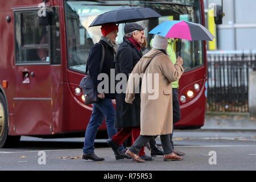
[[[186,40],[212,41],[214,36],[207,28],[199,23],[184,20],[170,20],[163,22],[151,30],[148,34],[158,34],[166,38],[179,38]],[[181,45],[181,40],[180,40]]]

